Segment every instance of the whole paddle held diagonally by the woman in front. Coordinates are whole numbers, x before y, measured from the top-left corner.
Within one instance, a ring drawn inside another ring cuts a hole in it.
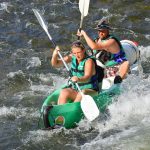
[[[35,14],[35,16],[37,17],[37,20],[39,21],[41,27],[44,29],[44,31],[46,32],[46,34],[48,35],[50,41],[52,41],[53,45],[56,46],[55,42],[53,41],[51,35],[48,32],[48,27],[46,26],[43,17],[40,15],[40,13],[36,10],[33,9],[33,12]],[[64,61],[63,57],[61,56],[60,52],[58,51],[58,55],[60,57],[60,59],[62,60],[64,66],[66,67],[67,71],[70,72],[66,62]],[[98,117],[99,115],[99,109],[97,107],[97,105],[95,104],[95,101],[93,100],[93,98],[89,95],[84,95],[80,88],[79,85],[77,83],[75,83],[79,92],[82,95],[82,99],[81,99],[81,109],[85,115],[85,117],[89,120],[92,121],[94,120],[96,117]]]

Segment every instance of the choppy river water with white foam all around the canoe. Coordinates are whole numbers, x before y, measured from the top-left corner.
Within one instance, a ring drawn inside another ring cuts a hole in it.
[[[110,119],[81,121],[75,129],[44,131],[41,105],[68,74],[50,65],[54,48],[32,9],[40,10],[53,39],[63,49],[77,39],[77,0],[0,1],[0,149],[1,150],[149,150],[150,149],[150,1],[91,0],[83,28],[106,17],[120,39],[138,42],[143,74],[129,75],[124,92],[109,106]]]

